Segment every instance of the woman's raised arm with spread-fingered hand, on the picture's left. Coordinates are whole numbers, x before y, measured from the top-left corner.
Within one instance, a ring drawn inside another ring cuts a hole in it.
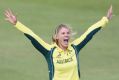
[[[31,40],[32,44],[36,49],[38,49],[43,55],[50,50],[50,45],[44,42],[40,37],[38,37],[33,31],[27,28],[25,25],[17,21],[17,17],[12,13],[11,10],[5,11],[6,20],[13,24],[18,30],[23,32],[25,36]]]

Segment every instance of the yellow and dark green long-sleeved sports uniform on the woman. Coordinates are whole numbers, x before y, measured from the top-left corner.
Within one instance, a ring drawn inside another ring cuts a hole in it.
[[[108,23],[107,17],[103,17],[92,25],[81,37],[69,42],[66,51],[58,47],[56,43],[47,44],[34,34],[29,28],[17,21],[15,27],[22,31],[30,39],[33,46],[43,54],[49,69],[50,80],[79,80],[79,52],[91,40],[93,35]]]

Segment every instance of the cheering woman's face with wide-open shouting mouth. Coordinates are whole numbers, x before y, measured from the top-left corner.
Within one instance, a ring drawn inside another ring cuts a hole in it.
[[[56,35],[56,39],[58,40],[58,46],[62,49],[66,49],[68,47],[68,43],[70,40],[70,30],[62,27],[58,34]]]

